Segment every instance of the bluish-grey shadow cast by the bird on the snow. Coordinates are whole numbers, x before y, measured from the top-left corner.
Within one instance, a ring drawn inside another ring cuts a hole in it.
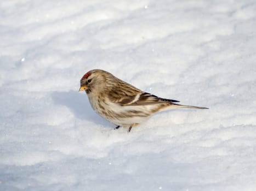
[[[56,105],[67,106],[67,108],[69,108],[80,120],[92,121],[95,124],[100,124],[104,127],[112,127],[111,123],[95,113],[84,93],[78,93],[76,91],[53,92],[52,98]]]

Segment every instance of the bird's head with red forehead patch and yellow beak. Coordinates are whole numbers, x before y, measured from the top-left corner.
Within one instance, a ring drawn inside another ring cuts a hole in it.
[[[111,75],[107,71],[104,70],[90,70],[86,74],[83,75],[80,80],[80,91],[86,91],[86,93],[90,92],[101,92],[107,86],[108,76]]]

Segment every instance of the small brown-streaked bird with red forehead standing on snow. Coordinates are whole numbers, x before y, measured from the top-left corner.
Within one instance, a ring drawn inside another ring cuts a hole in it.
[[[93,69],[83,75],[80,91],[87,93],[90,105],[96,113],[115,124],[115,129],[127,127],[128,132],[156,112],[174,108],[208,109],[180,105],[177,104],[178,100],[141,91],[101,69]]]

